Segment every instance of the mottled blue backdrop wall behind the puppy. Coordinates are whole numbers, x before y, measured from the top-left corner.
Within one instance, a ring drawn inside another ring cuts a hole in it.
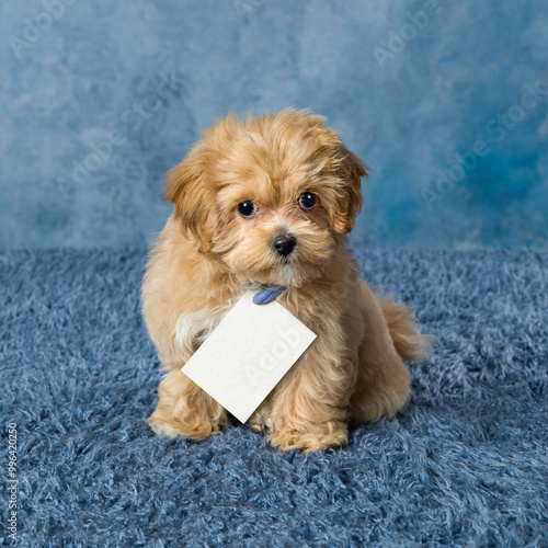
[[[545,0],[4,0],[0,41],[1,248],[150,241],[202,128],[288,105],[373,169],[355,241],[547,246]]]

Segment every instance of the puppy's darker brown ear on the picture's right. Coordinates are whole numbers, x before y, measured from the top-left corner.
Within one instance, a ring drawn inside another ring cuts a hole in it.
[[[336,176],[342,182],[342,196],[332,214],[331,227],[335,232],[349,233],[354,228],[354,219],[362,209],[362,179],[367,179],[367,165],[356,155],[341,145],[342,158]]]

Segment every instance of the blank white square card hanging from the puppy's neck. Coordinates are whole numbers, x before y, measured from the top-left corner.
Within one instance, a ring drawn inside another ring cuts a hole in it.
[[[242,295],[181,369],[240,422],[316,339],[276,300],[253,304],[255,293]]]

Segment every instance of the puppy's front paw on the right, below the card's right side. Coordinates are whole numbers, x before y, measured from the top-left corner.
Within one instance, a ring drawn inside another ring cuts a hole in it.
[[[331,421],[310,424],[304,430],[284,426],[269,434],[267,439],[273,447],[282,450],[298,449],[309,453],[345,445],[349,442],[349,431],[345,424]]]

